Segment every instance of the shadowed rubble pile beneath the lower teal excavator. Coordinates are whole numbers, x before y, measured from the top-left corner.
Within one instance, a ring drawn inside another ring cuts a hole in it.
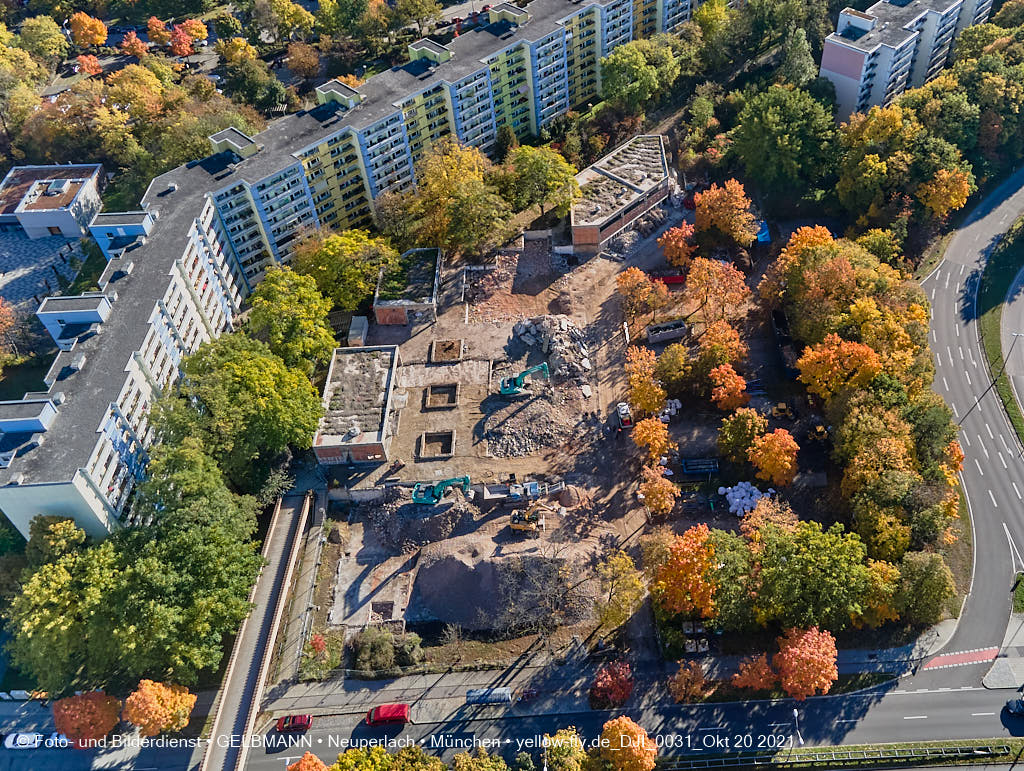
[[[400,552],[414,552],[449,538],[479,510],[458,489],[449,490],[441,503],[427,506],[414,504],[407,489],[388,487],[383,498],[357,504],[354,513],[370,523],[381,543]]]

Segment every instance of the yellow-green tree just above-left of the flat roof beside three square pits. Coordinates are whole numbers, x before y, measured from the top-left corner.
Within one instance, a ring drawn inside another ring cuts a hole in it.
[[[268,268],[249,303],[248,333],[265,342],[288,367],[311,375],[315,365],[331,357],[335,347],[328,322],[331,301],[311,276],[287,266]]]

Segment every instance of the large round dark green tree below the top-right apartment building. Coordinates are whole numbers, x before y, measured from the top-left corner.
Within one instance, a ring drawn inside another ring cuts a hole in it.
[[[806,91],[772,86],[746,102],[732,146],[763,189],[792,196],[801,195],[830,167],[835,136],[836,124],[819,101]]]

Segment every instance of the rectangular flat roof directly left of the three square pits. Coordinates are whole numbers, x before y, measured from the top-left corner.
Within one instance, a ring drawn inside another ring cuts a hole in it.
[[[313,446],[381,441],[397,363],[397,345],[336,348]]]

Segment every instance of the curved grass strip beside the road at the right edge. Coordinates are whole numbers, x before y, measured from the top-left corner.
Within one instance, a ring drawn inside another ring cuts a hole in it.
[[[1024,415],[1014,398],[1010,379],[1002,361],[1002,343],[999,327],[1002,318],[1002,303],[1014,277],[1024,265],[1024,219],[1019,219],[1007,232],[999,245],[992,250],[985,263],[978,291],[978,324],[981,329],[981,345],[988,360],[988,369],[995,379],[995,391],[1006,408],[1010,422],[1017,436],[1024,441]]]

